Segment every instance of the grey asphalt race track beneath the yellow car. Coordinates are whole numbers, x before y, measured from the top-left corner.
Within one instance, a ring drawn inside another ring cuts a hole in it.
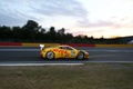
[[[0,63],[84,63],[84,62],[133,62],[133,48],[80,47],[90,53],[90,59],[41,59],[40,48],[0,47]]]

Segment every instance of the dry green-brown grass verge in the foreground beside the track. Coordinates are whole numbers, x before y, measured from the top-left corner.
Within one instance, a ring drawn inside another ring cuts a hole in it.
[[[0,67],[0,89],[133,89],[133,63]]]

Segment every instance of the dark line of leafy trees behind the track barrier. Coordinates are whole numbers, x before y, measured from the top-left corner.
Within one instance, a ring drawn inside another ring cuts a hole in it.
[[[61,28],[50,27],[47,31],[33,20],[28,20],[23,27],[0,26],[0,41],[11,42],[49,42],[49,43],[122,43],[121,38],[94,39],[88,36],[73,36]]]

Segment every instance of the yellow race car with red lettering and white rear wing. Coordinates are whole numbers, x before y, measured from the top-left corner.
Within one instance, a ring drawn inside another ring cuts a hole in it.
[[[41,47],[41,58],[47,59],[58,59],[58,58],[78,58],[78,59],[88,59],[89,53],[84,50],[78,50],[70,46],[57,46],[44,48],[44,44]]]

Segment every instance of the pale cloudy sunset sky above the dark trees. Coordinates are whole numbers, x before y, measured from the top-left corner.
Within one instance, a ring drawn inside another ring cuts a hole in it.
[[[0,0],[0,26],[61,28],[73,36],[133,36],[133,0]]]

